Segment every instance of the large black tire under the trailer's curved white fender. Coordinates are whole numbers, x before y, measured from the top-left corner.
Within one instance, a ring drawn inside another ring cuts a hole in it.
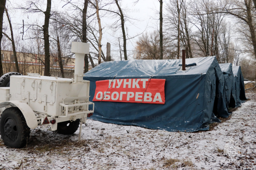
[[[0,120],[0,134],[6,146],[22,148],[27,144],[30,128],[18,107],[4,110]]]

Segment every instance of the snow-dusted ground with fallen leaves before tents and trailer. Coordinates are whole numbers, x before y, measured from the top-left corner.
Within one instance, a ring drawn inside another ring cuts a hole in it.
[[[31,131],[27,147],[0,143],[0,169],[256,169],[256,94],[209,131],[168,132],[88,120],[71,136]],[[127,133],[127,130],[129,133]],[[223,153],[233,139],[240,154]]]

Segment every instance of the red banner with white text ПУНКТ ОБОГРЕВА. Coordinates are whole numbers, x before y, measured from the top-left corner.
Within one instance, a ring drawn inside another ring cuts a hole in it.
[[[134,78],[96,81],[92,101],[164,104],[165,79]]]

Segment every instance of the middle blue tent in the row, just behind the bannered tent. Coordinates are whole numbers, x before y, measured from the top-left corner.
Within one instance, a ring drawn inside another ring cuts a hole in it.
[[[232,63],[220,64],[220,69],[225,78],[225,91],[226,91],[226,105],[227,107],[236,107],[236,90],[235,90],[235,77],[233,74]]]

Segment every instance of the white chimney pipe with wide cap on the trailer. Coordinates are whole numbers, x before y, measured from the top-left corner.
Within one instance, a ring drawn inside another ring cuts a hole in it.
[[[74,83],[83,81],[84,76],[84,55],[89,54],[90,44],[84,42],[72,42],[71,53],[75,53],[75,81]]]

